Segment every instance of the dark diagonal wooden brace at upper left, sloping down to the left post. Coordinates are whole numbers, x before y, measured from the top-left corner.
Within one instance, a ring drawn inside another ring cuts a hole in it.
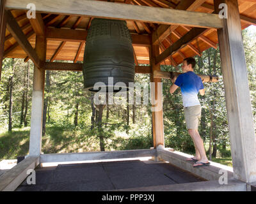
[[[38,67],[41,65],[41,61],[36,54],[34,48],[29,43],[26,35],[22,32],[17,21],[13,17],[11,11],[6,11],[6,19],[7,19],[7,29],[10,31],[12,36],[15,38],[17,43],[19,43],[20,47],[26,52],[26,54],[30,57],[30,59],[34,62],[34,64]]]

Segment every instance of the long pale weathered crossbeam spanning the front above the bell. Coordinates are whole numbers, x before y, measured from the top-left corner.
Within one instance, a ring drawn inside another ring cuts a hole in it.
[[[30,3],[30,0],[6,0],[6,8],[27,10],[26,5],[28,3]],[[193,11],[170,10],[168,8],[118,4],[106,1],[34,0],[33,3],[36,5],[36,11],[42,13],[113,18],[168,25],[191,25],[193,27],[220,28],[222,26],[218,15]]]

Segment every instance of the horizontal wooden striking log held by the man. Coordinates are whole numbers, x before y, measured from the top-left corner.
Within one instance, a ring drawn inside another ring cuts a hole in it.
[[[173,71],[154,71],[154,78],[173,78],[178,77],[182,73],[173,72]],[[204,82],[218,82],[218,77],[212,77],[209,75],[198,75]]]

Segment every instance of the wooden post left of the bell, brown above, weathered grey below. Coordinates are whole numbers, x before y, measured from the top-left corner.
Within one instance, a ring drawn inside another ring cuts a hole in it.
[[[45,36],[36,36],[36,54],[45,62],[46,39]],[[42,148],[42,122],[44,107],[44,81],[45,69],[34,66],[31,130],[29,140],[29,156],[40,156]]]

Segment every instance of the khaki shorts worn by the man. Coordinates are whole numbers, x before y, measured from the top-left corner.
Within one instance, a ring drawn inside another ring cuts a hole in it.
[[[189,106],[184,108],[185,121],[188,129],[198,129],[201,118],[201,105]]]

